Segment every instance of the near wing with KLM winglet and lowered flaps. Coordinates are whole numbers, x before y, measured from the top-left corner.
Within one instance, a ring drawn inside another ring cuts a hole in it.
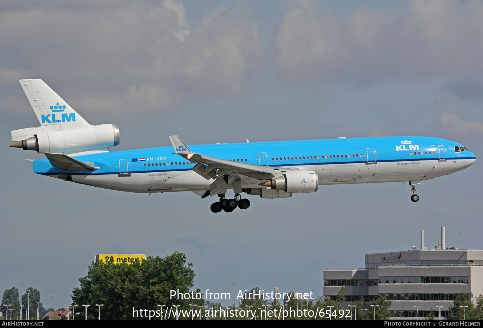
[[[178,136],[170,136],[175,152],[183,158],[196,164],[192,170],[203,178],[214,179],[210,186],[210,196],[217,193],[225,193],[231,185],[235,193],[241,193],[241,182],[244,185],[258,185],[281,174],[281,171],[270,167],[248,163],[232,162],[215,157],[194,153]],[[249,187],[251,188],[251,187]],[[224,191],[225,192],[220,192]]]

